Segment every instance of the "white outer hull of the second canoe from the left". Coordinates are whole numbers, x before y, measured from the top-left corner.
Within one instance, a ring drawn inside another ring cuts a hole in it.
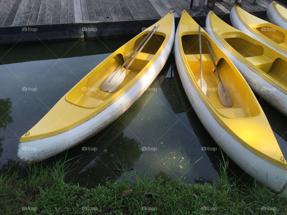
[[[206,28],[208,27],[206,26]],[[228,131],[222,128],[204,105],[204,102],[191,84],[181,61],[177,33],[175,34],[174,47],[176,67],[184,90],[196,115],[199,117],[210,136],[216,141],[222,151],[224,151],[242,170],[257,179],[260,183],[266,184],[274,193],[286,193],[287,171],[273,165],[243,147],[230,135],[230,133],[228,133]]]

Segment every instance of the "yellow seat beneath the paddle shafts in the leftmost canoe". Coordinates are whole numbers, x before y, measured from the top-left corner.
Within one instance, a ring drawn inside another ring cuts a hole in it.
[[[129,52],[129,53],[126,53],[126,55],[124,56],[124,60],[126,61],[128,59],[128,57],[132,54],[133,51]],[[135,52],[135,54],[133,56],[135,56],[138,52]],[[139,70],[141,71],[145,66],[146,64],[152,60],[152,58],[154,57],[155,55],[153,54],[148,54],[148,53],[144,53],[144,52],[140,52],[138,54],[138,56],[135,58],[134,62],[132,62],[132,64],[130,65],[130,69],[134,69],[134,70]],[[131,61],[132,59],[130,59],[127,63],[126,63],[126,66],[129,64],[129,62]]]

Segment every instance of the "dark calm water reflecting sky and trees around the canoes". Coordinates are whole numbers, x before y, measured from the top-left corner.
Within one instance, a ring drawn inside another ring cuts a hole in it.
[[[130,38],[102,41],[16,44],[0,50],[0,168],[22,170],[19,137],[35,125],[91,69]],[[58,59],[59,58],[59,59]],[[286,117],[259,102],[283,154]],[[97,149],[86,151],[85,149]],[[145,150],[150,149],[150,150]],[[204,150],[208,149],[208,150]],[[91,139],[45,160],[72,159],[66,181],[94,187],[117,180],[115,169],[133,168],[153,177],[183,177],[188,183],[219,177],[222,154],[207,133],[181,85],[171,53],[163,70],[129,110]],[[229,160],[229,171],[250,177]]]

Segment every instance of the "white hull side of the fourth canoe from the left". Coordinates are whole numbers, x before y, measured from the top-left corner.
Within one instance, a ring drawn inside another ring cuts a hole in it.
[[[263,44],[267,45],[268,47],[274,49],[275,51],[277,51],[278,53],[282,54],[283,56],[287,57],[287,54],[283,53],[282,51],[278,50],[277,48],[275,48],[274,46],[270,45],[269,43],[265,42],[264,40],[262,40],[260,37],[258,37],[256,34],[254,34],[253,32],[251,32],[239,19],[234,7],[232,7],[231,11],[230,11],[230,21],[232,23],[232,26],[235,27],[236,29],[242,31],[243,33],[251,36],[252,38],[258,40],[259,42],[262,42]]]

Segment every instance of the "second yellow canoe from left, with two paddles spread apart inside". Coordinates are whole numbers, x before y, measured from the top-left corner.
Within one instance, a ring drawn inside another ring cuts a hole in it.
[[[287,164],[262,108],[235,65],[203,29],[201,41],[207,96],[198,83],[198,24],[183,12],[175,33],[174,50],[178,73],[193,109],[210,136],[239,167],[274,191],[281,192],[283,181],[287,182]],[[210,44],[221,80],[230,92],[232,107],[223,106],[219,98],[219,79],[206,41]],[[278,175],[280,179],[276,178]],[[272,185],[275,180],[280,187]]]

